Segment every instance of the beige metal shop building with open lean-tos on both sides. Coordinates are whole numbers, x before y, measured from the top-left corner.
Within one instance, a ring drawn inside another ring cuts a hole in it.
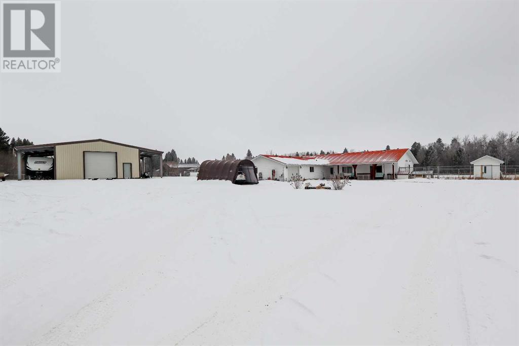
[[[162,151],[105,139],[24,145],[15,150],[18,180],[26,176],[28,158],[31,157],[51,157],[53,179],[116,179],[141,177],[146,159],[158,156],[159,174],[162,177]]]

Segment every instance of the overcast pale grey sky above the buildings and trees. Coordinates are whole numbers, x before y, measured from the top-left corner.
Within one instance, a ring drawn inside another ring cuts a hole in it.
[[[200,162],[518,130],[518,13],[516,1],[62,1],[62,72],[0,74],[0,126]]]

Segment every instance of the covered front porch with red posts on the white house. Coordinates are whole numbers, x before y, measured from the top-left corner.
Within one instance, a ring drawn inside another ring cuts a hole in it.
[[[324,178],[346,177],[358,180],[397,179],[398,166],[396,162],[363,165],[327,165],[323,169]]]

